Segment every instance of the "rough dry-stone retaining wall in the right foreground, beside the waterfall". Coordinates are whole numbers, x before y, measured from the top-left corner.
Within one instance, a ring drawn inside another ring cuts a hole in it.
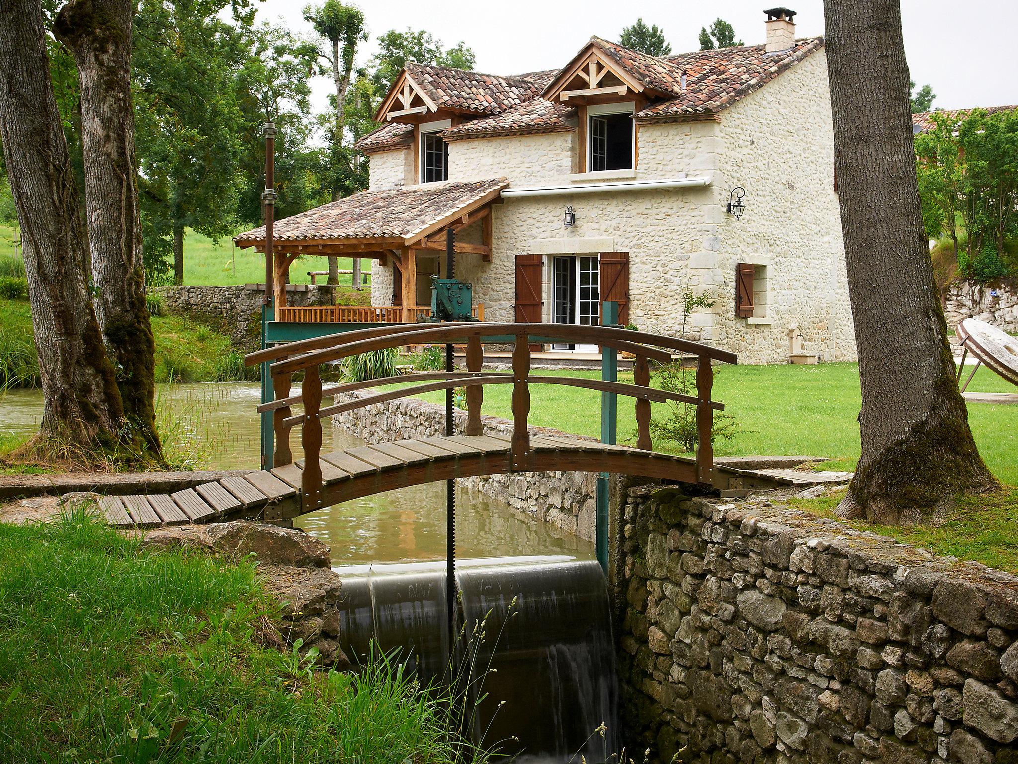
[[[1018,761],[1018,579],[765,500],[628,496],[631,747],[703,764]]]

